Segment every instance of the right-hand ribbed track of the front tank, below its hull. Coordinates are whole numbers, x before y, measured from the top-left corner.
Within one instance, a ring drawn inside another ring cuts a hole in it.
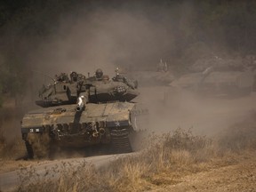
[[[130,153],[132,146],[129,139],[129,131],[127,129],[112,130],[110,132],[112,139],[112,148],[115,153]]]

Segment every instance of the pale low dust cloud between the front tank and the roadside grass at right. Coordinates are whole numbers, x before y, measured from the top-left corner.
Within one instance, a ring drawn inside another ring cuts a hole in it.
[[[156,133],[172,132],[180,127],[191,128],[196,134],[215,136],[244,121],[255,110],[252,106],[255,98],[251,95],[228,100],[151,87],[142,88],[140,97],[150,111],[149,128]]]

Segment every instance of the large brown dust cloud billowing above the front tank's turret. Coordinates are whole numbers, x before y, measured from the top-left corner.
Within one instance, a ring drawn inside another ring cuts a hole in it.
[[[61,15],[57,26],[49,25],[54,33],[29,50],[30,89],[36,97],[41,84],[51,82],[43,74],[53,77],[76,71],[93,76],[102,68],[112,77],[116,67],[155,70],[160,59],[170,68],[183,68],[212,54],[204,43],[196,45],[197,52],[193,44],[185,47],[196,12],[196,5],[188,1],[81,3],[73,12]]]

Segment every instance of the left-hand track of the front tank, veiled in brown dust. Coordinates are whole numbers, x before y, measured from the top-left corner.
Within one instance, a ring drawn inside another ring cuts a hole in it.
[[[37,158],[48,157],[50,151],[50,137],[48,133],[29,132],[26,147],[28,150],[28,158],[33,158],[33,156]]]

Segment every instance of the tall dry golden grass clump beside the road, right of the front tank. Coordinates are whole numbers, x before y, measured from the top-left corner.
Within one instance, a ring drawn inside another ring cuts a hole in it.
[[[115,191],[142,191],[177,183],[180,175],[196,172],[199,169],[195,164],[212,157],[208,154],[212,141],[194,136],[190,130],[179,128],[172,134],[153,138],[154,144],[139,155],[119,159],[111,171],[108,169],[107,172],[118,172],[120,176],[112,184]],[[203,158],[202,154],[208,155]],[[164,177],[158,177],[163,174]]]

